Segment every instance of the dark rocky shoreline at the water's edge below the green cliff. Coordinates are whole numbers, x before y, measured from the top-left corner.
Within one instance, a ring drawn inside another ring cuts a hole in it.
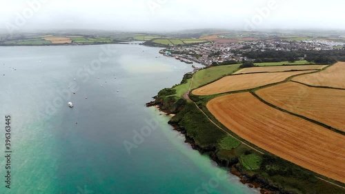
[[[155,101],[150,101],[146,104],[147,107],[156,106],[159,108],[159,110],[163,113],[166,113],[166,115],[170,115],[172,113],[175,113],[174,111],[169,110],[168,108],[162,108],[164,102],[157,100],[157,96],[153,97],[156,99]],[[239,160],[235,159],[234,161],[228,161],[225,159],[219,159],[217,157],[217,148],[214,146],[210,146],[207,148],[201,148],[193,139],[193,137],[189,137],[186,133],[186,130],[179,126],[178,122],[172,122],[171,120],[168,122],[174,130],[179,131],[179,133],[184,134],[186,137],[186,142],[192,146],[193,149],[199,151],[201,154],[208,154],[213,161],[217,162],[217,164],[221,167],[225,167],[229,169],[229,172],[233,175],[236,175],[240,178],[240,182],[242,184],[247,184],[250,188],[259,188],[260,193],[262,194],[273,194],[273,193],[282,193],[282,194],[293,194],[292,192],[284,191],[282,188],[279,188],[278,186],[275,186],[273,184],[270,184],[267,180],[259,177],[258,175],[249,175],[242,169],[241,166],[239,166]]]

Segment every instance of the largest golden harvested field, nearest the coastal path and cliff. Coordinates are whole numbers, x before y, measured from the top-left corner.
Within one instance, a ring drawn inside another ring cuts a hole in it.
[[[207,104],[221,124],[248,142],[311,171],[345,182],[345,136],[283,113],[250,93]]]

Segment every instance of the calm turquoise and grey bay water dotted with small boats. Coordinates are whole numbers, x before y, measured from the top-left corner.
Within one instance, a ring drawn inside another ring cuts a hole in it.
[[[13,153],[10,189],[0,160],[0,193],[258,193],[144,106],[192,70],[158,51],[1,47],[0,124],[11,115]]]

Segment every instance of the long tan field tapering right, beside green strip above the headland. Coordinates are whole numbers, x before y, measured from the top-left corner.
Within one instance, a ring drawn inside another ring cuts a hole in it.
[[[192,93],[193,95],[215,95],[237,90],[246,90],[277,83],[293,75],[313,71],[314,70],[302,70],[293,72],[263,72],[247,75],[230,75],[201,88],[197,88],[193,90]]]

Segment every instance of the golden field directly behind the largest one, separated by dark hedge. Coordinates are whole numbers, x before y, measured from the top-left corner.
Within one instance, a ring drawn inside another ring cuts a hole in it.
[[[256,93],[279,108],[345,131],[345,90],[312,88],[289,81]]]

